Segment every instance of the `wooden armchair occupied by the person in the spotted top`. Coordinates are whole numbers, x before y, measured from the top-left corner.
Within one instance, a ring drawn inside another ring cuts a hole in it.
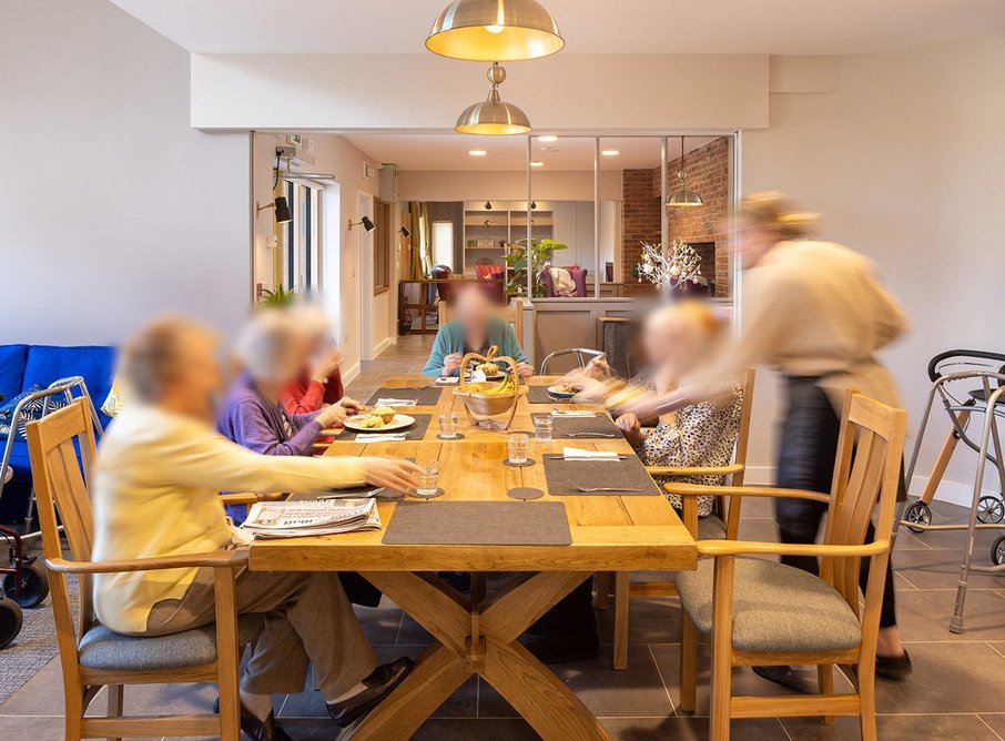
[[[732,486],[743,486],[747,469],[747,444],[750,439],[750,415],[753,408],[753,390],[757,372],[748,368],[743,376],[743,405],[740,410],[740,426],[737,435],[737,448],[733,463],[729,466],[647,466],[646,470],[656,476],[730,476]],[[720,488],[720,487],[711,487]],[[717,493],[718,494],[718,493]],[[698,497],[681,497],[683,508],[681,520],[696,539],[728,538],[734,540],[740,529],[740,500],[735,506],[727,497],[719,497],[718,516],[709,515],[698,518]],[[598,591],[602,590],[603,580]],[[628,669],[628,617],[629,600],[632,597],[674,597],[677,586],[670,579],[662,581],[632,581],[630,571],[615,573],[615,669]],[[599,607],[599,606],[598,606]]]

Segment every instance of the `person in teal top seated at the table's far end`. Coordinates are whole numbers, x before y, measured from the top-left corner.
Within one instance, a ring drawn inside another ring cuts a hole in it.
[[[455,304],[456,318],[441,326],[433,341],[433,349],[424,376],[456,376],[465,353],[487,353],[496,345],[498,356],[511,357],[524,378],[534,375],[534,368],[520,347],[512,325],[494,316],[493,306],[477,286],[464,288]]]

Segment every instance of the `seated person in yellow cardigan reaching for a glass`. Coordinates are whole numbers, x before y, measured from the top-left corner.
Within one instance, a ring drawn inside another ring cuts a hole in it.
[[[95,461],[93,559],[201,554],[241,547],[220,490],[323,494],[363,483],[414,486],[417,467],[385,458],[264,456],[213,430],[221,392],[217,342],[180,317],[160,319],[126,343],[119,376],[129,405],[110,425]],[[214,620],[211,569],[99,575],[94,605],[111,630],[163,636]],[[241,725],[255,739],[287,739],[273,692],[301,692],[308,663],[329,713],[348,725],[408,673],[398,659],[376,666],[335,573],[242,571],[237,611],[265,616],[241,678]]]

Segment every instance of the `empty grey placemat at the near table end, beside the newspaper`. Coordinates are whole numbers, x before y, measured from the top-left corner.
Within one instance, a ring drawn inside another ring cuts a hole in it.
[[[384,534],[390,546],[569,546],[560,501],[403,501]]]

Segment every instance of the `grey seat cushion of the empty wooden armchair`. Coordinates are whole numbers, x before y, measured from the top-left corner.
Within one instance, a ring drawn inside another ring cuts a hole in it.
[[[677,575],[681,607],[702,632],[712,629],[714,559]],[[839,651],[859,646],[859,619],[836,589],[791,566],[737,558],[733,648],[741,651]]]

